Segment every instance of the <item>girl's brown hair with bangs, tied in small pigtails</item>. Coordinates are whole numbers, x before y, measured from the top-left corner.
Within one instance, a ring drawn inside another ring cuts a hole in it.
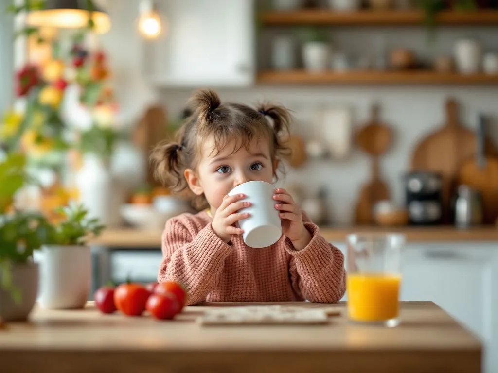
[[[233,153],[242,146],[248,149],[253,140],[260,138],[269,140],[272,164],[290,154],[285,140],[289,135],[291,117],[289,110],[281,105],[261,103],[252,108],[240,103],[222,103],[219,95],[209,89],[194,93],[189,104],[193,112],[175,134],[175,141],[159,143],[150,156],[154,178],[173,192],[190,192],[184,172],[196,169],[202,141],[209,136],[214,138],[213,152],[216,154],[234,140]],[[280,167],[282,162],[279,162]],[[273,170],[275,180],[278,179],[277,171]],[[190,194],[195,208],[208,206],[204,195]]]

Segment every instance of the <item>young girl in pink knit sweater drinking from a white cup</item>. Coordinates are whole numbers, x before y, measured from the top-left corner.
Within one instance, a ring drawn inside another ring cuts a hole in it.
[[[248,247],[236,224],[245,195],[228,196],[252,180],[273,183],[286,148],[290,115],[277,105],[257,109],[221,103],[211,90],[191,99],[193,114],[178,142],[152,153],[155,177],[175,191],[193,193],[197,214],[170,219],[162,235],[158,281],[188,290],[187,304],[203,301],[336,302],[345,292],[344,256],[319,233],[292,196],[275,189],[282,237],[270,247]]]

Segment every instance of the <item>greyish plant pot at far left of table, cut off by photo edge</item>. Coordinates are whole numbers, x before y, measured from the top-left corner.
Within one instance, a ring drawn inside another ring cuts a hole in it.
[[[26,321],[33,309],[38,292],[38,264],[31,261],[10,268],[13,287],[20,292],[16,303],[9,291],[0,288],[0,318],[3,321]],[[2,270],[0,269],[0,278]]]

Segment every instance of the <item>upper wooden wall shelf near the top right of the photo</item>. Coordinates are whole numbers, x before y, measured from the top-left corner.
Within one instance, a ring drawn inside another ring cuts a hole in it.
[[[266,12],[261,16],[264,25],[416,25],[423,24],[425,15],[418,10],[338,12],[326,9]],[[442,11],[436,17],[444,25],[496,25],[498,10]]]

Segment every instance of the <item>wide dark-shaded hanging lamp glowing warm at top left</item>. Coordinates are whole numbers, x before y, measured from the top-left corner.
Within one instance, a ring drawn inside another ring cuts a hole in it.
[[[28,25],[37,27],[81,28],[88,25],[89,0],[47,0],[40,10],[32,10],[26,16]],[[111,28],[109,15],[93,5],[94,31],[105,34]]]

